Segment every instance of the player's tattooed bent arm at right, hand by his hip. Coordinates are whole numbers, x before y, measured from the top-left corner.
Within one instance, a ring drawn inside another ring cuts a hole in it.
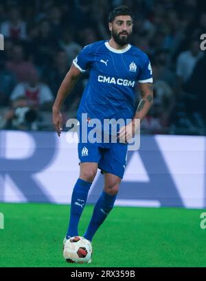
[[[153,83],[139,83],[139,91],[141,93],[141,100],[137,106],[137,111],[133,117],[132,122],[128,125],[123,126],[119,130],[119,139],[122,139],[125,142],[129,142],[130,139],[135,135],[137,128],[144,117],[146,117],[150,107],[153,102]],[[140,120],[140,122],[135,122],[135,120]]]

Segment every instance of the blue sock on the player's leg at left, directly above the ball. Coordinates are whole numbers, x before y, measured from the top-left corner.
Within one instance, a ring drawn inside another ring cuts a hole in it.
[[[91,183],[83,179],[78,179],[73,188],[67,238],[68,236],[78,236],[78,223],[87,202],[87,195],[90,187]]]

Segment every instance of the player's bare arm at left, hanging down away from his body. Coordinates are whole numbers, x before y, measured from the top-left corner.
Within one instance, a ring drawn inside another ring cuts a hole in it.
[[[60,113],[61,106],[67,95],[73,89],[74,85],[76,85],[76,82],[78,81],[81,73],[82,72],[72,64],[67,75],[62,81],[60,88],[58,89],[56,100],[54,101],[54,105],[52,108],[52,119],[55,131],[58,133],[59,137],[62,131],[62,115]]]

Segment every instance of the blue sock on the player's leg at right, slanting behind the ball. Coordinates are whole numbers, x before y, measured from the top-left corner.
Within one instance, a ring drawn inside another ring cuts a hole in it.
[[[89,222],[89,226],[84,233],[84,238],[90,241],[92,240],[95,232],[98,230],[100,225],[102,225],[109,212],[113,209],[115,199],[116,196],[111,196],[104,191],[102,192],[93,209],[91,221]]]

